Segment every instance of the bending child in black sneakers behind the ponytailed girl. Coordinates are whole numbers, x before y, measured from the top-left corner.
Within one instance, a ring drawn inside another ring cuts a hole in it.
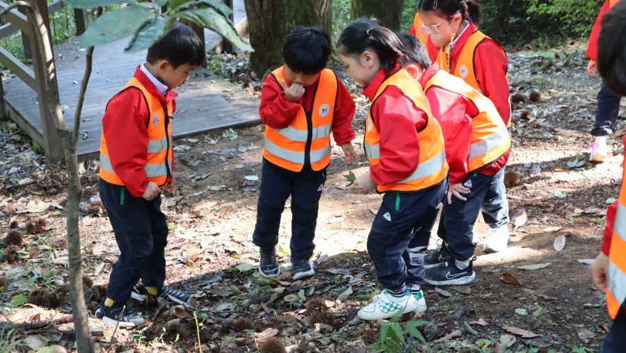
[[[508,161],[511,139],[489,99],[437,63],[431,64],[426,48],[414,35],[398,36],[407,53],[400,63],[424,89],[441,125],[450,166],[447,200],[437,231],[443,243],[424,259],[426,283],[469,284],[476,277],[472,271],[474,222],[495,179],[490,175]],[[430,229],[424,231],[430,233]],[[426,246],[428,243],[409,247],[423,251]]]

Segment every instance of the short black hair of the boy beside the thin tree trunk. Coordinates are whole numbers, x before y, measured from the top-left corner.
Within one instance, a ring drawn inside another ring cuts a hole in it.
[[[204,43],[193,29],[177,22],[158,42],[148,48],[145,60],[156,64],[159,60],[168,60],[174,68],[189,64],[195,67],[204,65],[207,54]]]

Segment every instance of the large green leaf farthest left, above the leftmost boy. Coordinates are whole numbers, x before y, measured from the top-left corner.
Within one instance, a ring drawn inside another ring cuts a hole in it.
[[[98,17],[81,40],[81,47],[95,47],[133,35],[138,28],[154,18],[155,14],[143,6],[116,8]]]

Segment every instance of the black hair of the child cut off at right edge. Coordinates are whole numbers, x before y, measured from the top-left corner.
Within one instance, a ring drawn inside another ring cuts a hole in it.
[[[613,92],[626,96],[626,1],[602,17],[597,38],[597,71]]]

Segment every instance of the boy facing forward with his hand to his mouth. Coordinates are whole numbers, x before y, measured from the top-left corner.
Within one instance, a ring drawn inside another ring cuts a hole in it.
[[[284,40],[284,65],[266,77],[259,113],[266,124],[257,223],[252,240],[260,248],[259,272],[277,277],[280,216],[291,195],[291,275],[311,277],[310,260],[319,198],[330,163],[330,132],[346,162],[359,159],[352,118],[355,104],[330,69],[330,36],[319,27],[296,26]]]

